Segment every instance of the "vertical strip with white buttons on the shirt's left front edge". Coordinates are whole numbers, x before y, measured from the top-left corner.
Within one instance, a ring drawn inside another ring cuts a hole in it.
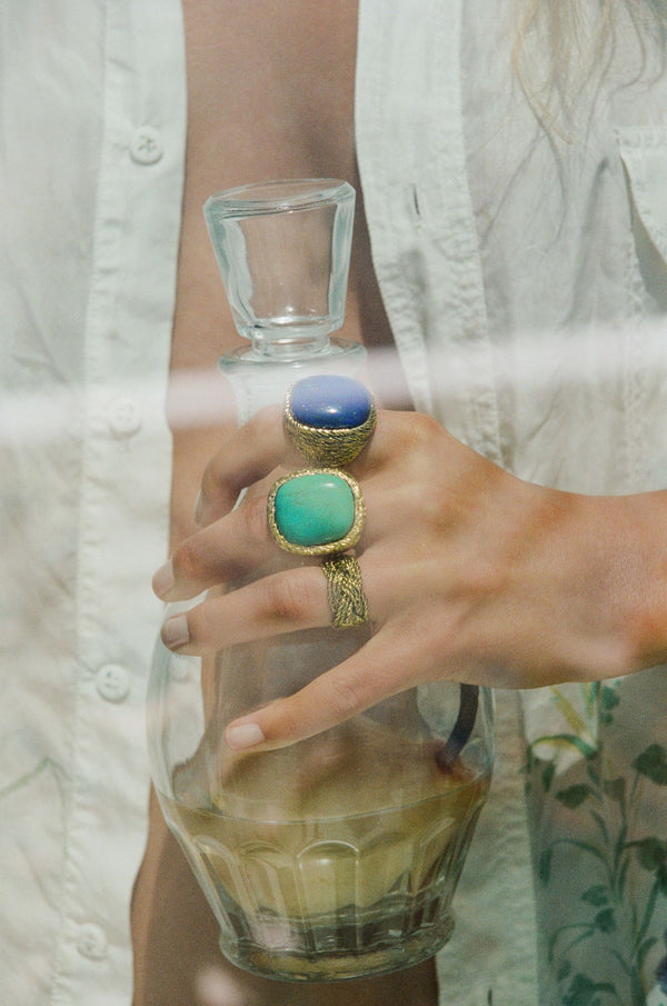
[[[52,1002],[131,1002],[146,839],[145,697],[168,540],[169,368],[185,150],[180,3],[106,3],[103,146],[86,322],[77,696]],[[170,59],[169,69],[163,66]],[[167,79],[168,78],[168,79]]]

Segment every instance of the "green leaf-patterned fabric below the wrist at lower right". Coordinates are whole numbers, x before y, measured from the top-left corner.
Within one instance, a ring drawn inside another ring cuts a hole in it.
[[[540,1003],[665,1006],[667,671],[544,689],[526,733]]]

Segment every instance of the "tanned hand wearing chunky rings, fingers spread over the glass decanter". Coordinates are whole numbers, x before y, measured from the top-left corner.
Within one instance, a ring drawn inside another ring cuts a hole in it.
[[[267,525],[269,487],[300,467],[277,409],[211,460],[206,526],[156,575],[156,592],[175,600],[259,578],[168,620],[168,646],[203,654],[330,624],[320,564],[279,552]],[[348,470],[366,499],[357,555],[371,638],[302,691],[231,724],[230,747],[293,743],[428,680],[535,687],[665,658],[667,562],[655,534],[666,526],[665,494],[535,486],[414,412],[380,411]]]

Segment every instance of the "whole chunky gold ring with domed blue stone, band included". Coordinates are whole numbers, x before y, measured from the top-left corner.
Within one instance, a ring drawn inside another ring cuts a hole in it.
[[[354,460],[377,422],[372,395],[349,377],[305,377],[287,392],[285,428],[311,465],[336,467]]]

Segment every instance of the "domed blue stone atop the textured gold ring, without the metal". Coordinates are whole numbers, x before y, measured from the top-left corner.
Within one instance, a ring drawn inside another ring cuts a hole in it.
[[[368,388],[351,377],[305,377],[293,386],[291,414],[298,422],[316,429],[352,429],[370,415]]]

